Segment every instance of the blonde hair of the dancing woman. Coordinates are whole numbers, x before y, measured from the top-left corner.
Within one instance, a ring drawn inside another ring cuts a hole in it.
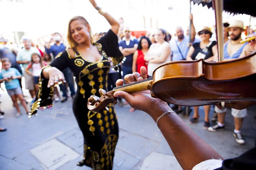
[[[73,40],[71,33],[70,33],[70,24],[75,21],[75,20],[81,20],[82,23],[87,26],[87,24],[90,26],[90,24],[87,22],[87,20],[84,17],[81,16],[76,16],[70,19],[70,21],[68,22],[68,30],[67,30],[67,41],[68,41],[68,45],[70,48],[75,48],[78,44]],[[90,41],[93,44],[94,42],[94,36],[92,31],[90,31]]]

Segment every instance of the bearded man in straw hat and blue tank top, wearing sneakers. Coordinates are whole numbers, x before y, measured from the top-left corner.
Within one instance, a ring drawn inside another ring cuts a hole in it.
[[[243,57],[245,55],[244,53],[244,47],[248,43],[241,44],[241,34],[244,31],[244,23],[239,20],[234,20],[233,22],[230,22],[230,25],[226,28],[228,30],[228,34],[230,35],[230,41],[228,41],[224,45],[224,58],[225,59],[236,59],[239,57]],[[211,132],[215,132],[221,129],[224,129],[224,121],[225,121],[225,113],[226,109],[224,111],[221,111],[217,107],[215,107],[215,112],[218,113],[218,123],[215,126],[208,127],[207,130]],[[237,110],[237,109],[231,109],[231,114],[234,117],[235,122],[235,129],[234,129],[234,137],[236,138],[236,142],[239,144],[244,144],[245,141],[243,137],[241,136],[241,126],[244,120],[244,117],[247,116],[247,110]]]

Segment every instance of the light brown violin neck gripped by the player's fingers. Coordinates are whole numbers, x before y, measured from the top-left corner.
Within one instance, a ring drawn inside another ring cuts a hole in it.
[[[144,79],[138,82],[122,85],[116,88],[113,88],[113,91],[125,91],[127,93],[150,90],[150,82],[153,78]]]

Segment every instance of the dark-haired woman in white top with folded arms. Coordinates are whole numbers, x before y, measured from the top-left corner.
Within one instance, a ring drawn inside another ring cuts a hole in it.
[[[157,43],[154,43],[148,49],[144,57],[148,61],[148,77],[153,76],[153,71],[166,62],[171,62],[171,47],[167,42],[166,31],[158,29],[154,34]]]

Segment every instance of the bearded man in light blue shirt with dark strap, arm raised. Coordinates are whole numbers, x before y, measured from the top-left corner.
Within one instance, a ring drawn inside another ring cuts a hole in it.
[[[177,26],[176,28],[176,36],[175,38],[172,38],[170,41],[170,46],[172,50],[172,61],[180,61],[180,60],[186,60],[186,56],[189,51],[189,39],[191,38],[191,42],[200,42],[198,39],[195,39],[195,26],[193,24],[193,15],[190,14],[189,19],[191,20],[191,37],[184,36],[184,31],[181,26]],[[175,110],[176,113],[182,112],[182,106],[174,105],[172,107],[172,110]],[[190,113],[189,108],[186,108],[186,113],[183,113],[184,115],[188,116]]]

